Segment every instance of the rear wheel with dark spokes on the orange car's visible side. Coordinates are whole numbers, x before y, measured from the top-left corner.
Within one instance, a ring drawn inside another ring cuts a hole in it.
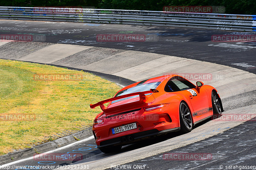
[[[188,133],[193,129],[193,122],[188,105],[180,102],[180,131]]]

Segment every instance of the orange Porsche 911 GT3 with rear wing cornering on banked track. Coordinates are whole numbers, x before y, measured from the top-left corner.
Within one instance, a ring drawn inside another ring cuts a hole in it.
[[[105,153],[145,137],[190,132],[196,123],[223,112],[214,87],[200,81],[194,85],[179,75],[128,85],[113,98],[90,105],[97,106],[102,112],[94,119],[92,132],[98,148]]]

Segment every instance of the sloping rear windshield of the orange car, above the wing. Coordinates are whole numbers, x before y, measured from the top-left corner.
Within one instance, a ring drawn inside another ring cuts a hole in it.
[[[118,92],[115,97],[117,96],[122,96],[125,94],[130,94],[130,93],[135,93],[135,92],[145,92],[150,89],[156,89],[156,87],[160,84],[161,82],[154,82],[154,83],[148,83],[148,84],[143,84],[143,85],[137,85],[134,87],[131,87],[129,89],[125,89],[121,92]]]

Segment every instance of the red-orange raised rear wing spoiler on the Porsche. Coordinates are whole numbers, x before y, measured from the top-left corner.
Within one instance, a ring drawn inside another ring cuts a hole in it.
[[[146,101],[146,95],[145,94],[152,93],[152,92],[158,92],[158,91],[156,89],[150,89],[149,91],[145,91],[145,92],[135,92],[135,93],[125,94],[125,95],[118,96],[118,97],[113,97],[113,98],[110,98],[110,99],[107,99],[107,100],[102,100],[102,101],[100,101],[96,104],[93,104],[93,105],[90,104],[90,107],[95,108],[97,106],[100,106],[100,108],[103,112],[111,113],[111,112],[115,112],[115,111],[118,111],[118,110],[122,110],[122,108],[133,107],[135,104],[145,103],[145,101]],[[108,102],[111,102],[111,101],[114,101],[114,100],[119,100],[119,99],[123,99],[123,98],[126,98],[126,97],[131,97],[131,96],[136,96],[136,95],[140,96],[139,101],[135,101],[135,102],[132,102],[132,103],[126,103],[126,104],[119,105],[119,106],[116,106],[116,107],[111,107],[111,108],[107,108],[103,105],[105,103],[108,103]]]

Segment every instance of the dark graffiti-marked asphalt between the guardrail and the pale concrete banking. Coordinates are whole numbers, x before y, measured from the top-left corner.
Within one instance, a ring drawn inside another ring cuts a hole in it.
[[[72,22],[0,21],[0,34],[20,33],[43,35],[45,37],[41,41],[50,43],[172,55],[218,63],[256,73],[255,41],[211,41],[212,35],[256,35],[252,32]],[[147,40],[144,42],[98,42],[96,36],[99,34],[143,34],[146,35]]]

